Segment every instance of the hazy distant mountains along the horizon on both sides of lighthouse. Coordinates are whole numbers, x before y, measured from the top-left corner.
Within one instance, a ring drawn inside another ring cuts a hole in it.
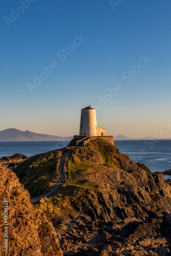
[[[73,136],[61,137],[61,136],[54,136],[54,135],[47,135],[47,134],[32,133],[28,130],[23,132],[15,128],[0,131],[0,141],[33,141],[33,140],[64,141],[64,140],[72,140],[72,139],[73,139]],[[129,138],[124,135],[117,135],[114,137],[114,140],[154,140],[154,139],[159,139],[159,138],[155,138],[155,137]]]

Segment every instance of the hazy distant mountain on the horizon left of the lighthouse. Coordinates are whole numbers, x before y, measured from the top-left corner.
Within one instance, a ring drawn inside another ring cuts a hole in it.
[[[0,132],[0,141],[33,141],[33,140],[72,140],[73,137],[60,137],[47,134],[20,131],[15,128],[6,129]]]

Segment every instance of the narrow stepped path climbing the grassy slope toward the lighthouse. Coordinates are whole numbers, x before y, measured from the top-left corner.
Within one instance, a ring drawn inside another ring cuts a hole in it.
[[[71,150],[69,150],[66,154],[64,154],[61,158],[60,158],[60,164],[59,164],[59,169],[58,169],[58,172],[59,172],[59,175],[60,175],[60,179],[57,181],[57,182],[54,182],[54,185],[51,187],[51,190],[44,194],[44,195],[41,195],[39,197],[35,197],[35,198],[32,198],[30,200],[31,203],[34,203],[34,202],[37,202],[39,201],[41,198],[44,198],[44,197],[49,197],[51,194],[54,193],[54,191],[56,189],[58,189],[65,181],[68,180],[68,162],[69,162],[69,155],[71,153]],[[63,175],[63,172],[62,172],[62,169],[63,169],[63,164],[65,162],[65,160],[67,160],[66,164],[64,165],[65,167],[65,172],[64,172],[64,175]],[[65,179],[66,177],[66,179]]]

